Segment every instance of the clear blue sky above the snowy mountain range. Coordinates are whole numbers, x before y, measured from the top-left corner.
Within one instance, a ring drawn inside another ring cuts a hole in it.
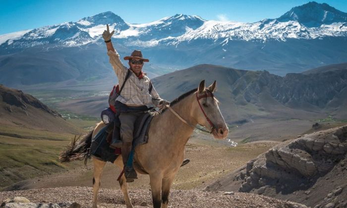
[[[316,0],[347,12],[347,0]],[[147,23],[174,14],[206,20],[255,22],[276,18],[309,0],[0,0],[0,35],[112,11],[128,23]]]

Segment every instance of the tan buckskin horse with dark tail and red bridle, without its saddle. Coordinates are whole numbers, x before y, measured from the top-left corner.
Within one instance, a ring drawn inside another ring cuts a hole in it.
[[[179,96],[168,106],[170,110],[164,109],[152,119],[148,130],[148,143],[135,148],[133,165],[138,173],[149,175],[154,208],[168,207],[170,188],[182,164],[184,146],[197,124],[210,129],[209,133],[213,134],[215,139],[227,137],[229,129],[219,109],[219,102],[213,95],[215,90],[216,81],[205,88],[203,80],[198,88]],[[70,147],[60,155],[60,161],[85,158],[86,163],[91,140],[103,127],[105,124],[100,122],[83,139],[72,141]],[[123,169],[121,156],[118,156],[114,163]],[[105,164],[105,161],[93,157],[92,208],[97,208],[100,177]],[[119,185],[126,207],[132,208],[124,174],[119,178]]]

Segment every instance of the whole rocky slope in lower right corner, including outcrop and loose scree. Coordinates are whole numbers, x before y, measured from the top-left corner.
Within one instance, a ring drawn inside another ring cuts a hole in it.
[[[205,188],[290,200],[310,207],[347,206],[347,126],[275,146]]]

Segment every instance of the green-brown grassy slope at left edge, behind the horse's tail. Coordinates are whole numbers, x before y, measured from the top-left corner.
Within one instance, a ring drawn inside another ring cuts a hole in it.
[[[58,153],[71,134],[0,126],[0,189],[12,183],[64,170]]]

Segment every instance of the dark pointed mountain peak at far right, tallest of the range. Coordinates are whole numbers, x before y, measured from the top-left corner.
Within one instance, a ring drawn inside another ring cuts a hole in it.
[[[297,21],[307,27],[319,27],[322,24],[346,22],[347,13],[342,12],[327,3],[310,1],[296,6],[277,19],[280,22]]]

